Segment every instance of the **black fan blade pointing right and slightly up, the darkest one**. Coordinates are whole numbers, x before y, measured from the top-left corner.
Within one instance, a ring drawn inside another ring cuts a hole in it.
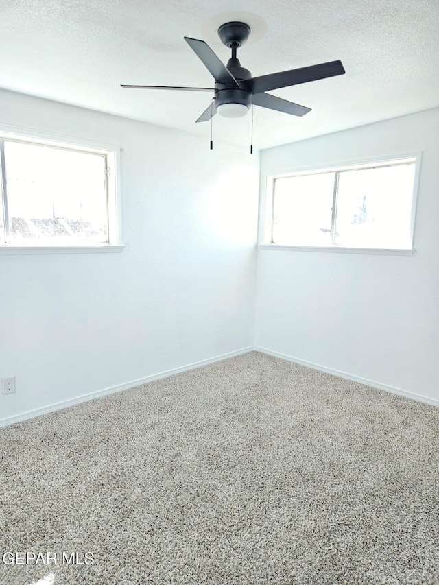
[[[252,79],[246,80],[245,83],[253,93],[262,93],[263,91],[321,80],[334,75],[343,75],[343,73],[345,71],[341,61],[330,61],[319,65],[301,67],[300,69],[272,73],[271,75],[252,77]]]

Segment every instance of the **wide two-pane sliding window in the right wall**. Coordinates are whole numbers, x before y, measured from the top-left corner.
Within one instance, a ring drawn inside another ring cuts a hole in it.
[[[416,158],[272,177],[265,242],[412,249]]]

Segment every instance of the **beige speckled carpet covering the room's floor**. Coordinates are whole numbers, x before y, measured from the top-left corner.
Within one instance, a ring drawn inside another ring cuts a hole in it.
[[[56,564],[0,582],[438,584],[438,423],[248,353],[2,429],[0,551]]]

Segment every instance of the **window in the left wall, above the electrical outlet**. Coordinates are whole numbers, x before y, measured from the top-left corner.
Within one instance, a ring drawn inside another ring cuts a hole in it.
[[[117,244],[115,152],[0,134],[0,246]]]

